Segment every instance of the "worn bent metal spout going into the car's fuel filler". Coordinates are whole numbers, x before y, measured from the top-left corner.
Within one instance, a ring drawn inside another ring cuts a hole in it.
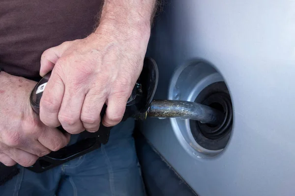
[[[225,114],[207,105],[191,101],[153,100],[148,108],[149,117],[192,119],[212,125],[221,124]]]

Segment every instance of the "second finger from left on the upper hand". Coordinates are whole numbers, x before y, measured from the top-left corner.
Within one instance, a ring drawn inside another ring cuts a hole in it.
[[[78,134],[85,130],[80,119],[84,99],[84,91],[65,89],[58,118],[64,130],[71,134]]]

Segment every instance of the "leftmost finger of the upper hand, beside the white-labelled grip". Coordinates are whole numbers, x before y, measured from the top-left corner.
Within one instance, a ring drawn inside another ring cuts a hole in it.
[[[64,84],[53,70],[40,100],[40,120],[49,127],[58,127],[59,108],[64,94]]]

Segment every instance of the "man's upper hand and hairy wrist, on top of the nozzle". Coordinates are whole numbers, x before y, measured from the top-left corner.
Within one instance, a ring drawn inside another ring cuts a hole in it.
[[[71,134],[95,132],[104,103],[102,123],[114,126],[121,121],[142,70],[154,0],[113,1],[105,1],[94,33],[43,53],[40,75],[53,70],[40,102],[40,119],[46,125],[61,124]]]

